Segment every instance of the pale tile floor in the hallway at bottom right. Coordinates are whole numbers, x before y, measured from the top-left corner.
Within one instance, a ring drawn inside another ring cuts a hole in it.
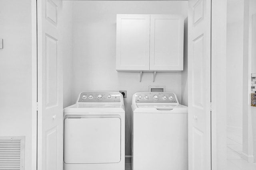
[[[256,170],[256,164],[241,158],[242,130],[227,129],[227,170]]]

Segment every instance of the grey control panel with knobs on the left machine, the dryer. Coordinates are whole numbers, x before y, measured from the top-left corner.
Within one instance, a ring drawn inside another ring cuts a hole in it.
[[[78,102],[121,102],[122,94],[119,92],[82,92]]]

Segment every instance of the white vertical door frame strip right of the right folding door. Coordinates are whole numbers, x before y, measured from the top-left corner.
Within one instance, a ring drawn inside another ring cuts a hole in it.
[[[227,0],[212,0],[211,136],[212,170],[226,169]]]

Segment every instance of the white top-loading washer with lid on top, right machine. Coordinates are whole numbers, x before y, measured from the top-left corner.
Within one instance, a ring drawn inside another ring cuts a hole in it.
[[[132,97],[133,170],[188,170],[188,107],[170,92]]]

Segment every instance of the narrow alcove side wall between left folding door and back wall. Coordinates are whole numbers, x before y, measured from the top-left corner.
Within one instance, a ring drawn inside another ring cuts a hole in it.
[[[62,59],[63,59],[63,107],[72,104],[72,47],[73,47],[73,23],[72,1],[63,1],[62,5]]]

